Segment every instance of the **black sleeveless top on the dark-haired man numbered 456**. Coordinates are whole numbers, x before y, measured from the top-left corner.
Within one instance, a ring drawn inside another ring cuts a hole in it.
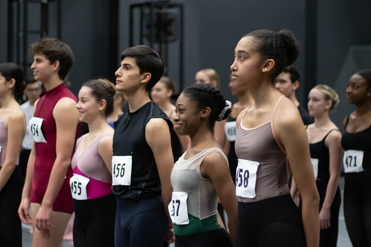
[[[119,115],[113,138],[113,156],[132,156],[131,185],[115,185],[112,193],[120,198],[161,196],[161,182],[153,152],[145,140],[145,126],[153,118],[173,124],[155,103],[148,102],[137,111]]]

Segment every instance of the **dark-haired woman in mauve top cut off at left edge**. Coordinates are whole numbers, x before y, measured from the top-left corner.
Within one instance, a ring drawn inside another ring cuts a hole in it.
[[[17,213],[23,177],[19,151],[26,134],[26,115],[14,98],[23,91],[23,73],[15,63],[0,64],[0,246],[22,246]]]

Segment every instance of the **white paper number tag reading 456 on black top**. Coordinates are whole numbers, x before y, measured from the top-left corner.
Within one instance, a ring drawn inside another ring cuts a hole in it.
[[[132,157],[112,156],[112,185],[130,185]]]

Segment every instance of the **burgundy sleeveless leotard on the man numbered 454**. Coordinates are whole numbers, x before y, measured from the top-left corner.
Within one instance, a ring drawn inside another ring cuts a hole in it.
[[[47,184],[49,182],[50,172],[52,171],[52,167],[57,156],[55,147],[56,124],[53,118],[53,109],[55,104],[64,97],[69,97],[75,100],[77,103],[76,96],[67,89],[64,83],[62,83],[50,91],[45,91],[45,95],[40,98],[35,109],[34,116],[44,119],[41,130],[45,137],[46,143],[35,142],[35,165],[30,198],[32,203],[42,202]],[[79,136],[80,129],[81,123],[79,123],[77,126],[75,143]],[[70,214],[73,212],[72,196],[69,187],[69,179],[72,177],[72,174],[72,168],[69,166],[62,187],[60,188],[59,193],[53,203],[53,211]]]

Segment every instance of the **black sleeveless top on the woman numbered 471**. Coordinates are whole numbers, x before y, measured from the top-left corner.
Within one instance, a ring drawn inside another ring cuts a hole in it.
[[[343,136],[341,138],[341,146],[344,150],[363,150],[363,171],[359,173],[345,173],[345,180],[353,181],[369,181],[371,180],[371,125],[365,130],[348,133],[346,128],[348,126],[349,116],[345,123]]]

